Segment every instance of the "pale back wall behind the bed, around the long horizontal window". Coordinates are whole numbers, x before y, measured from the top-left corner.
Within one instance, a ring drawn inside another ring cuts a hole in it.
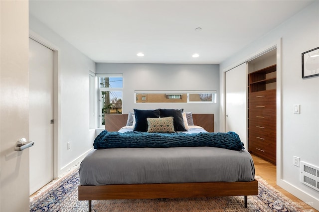
[[[123,73],[123,113],[134,108],[184,108],[214,113],[219,131],[219,65],[97,63],[97,73]],[[216,104],[135,104],[135,90],[216,90]]]

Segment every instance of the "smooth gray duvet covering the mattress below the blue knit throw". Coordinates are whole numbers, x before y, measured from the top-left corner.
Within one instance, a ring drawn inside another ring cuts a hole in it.
[[[217,147],[99,149],[80,165],[81,185],[235,182],[254,175],[246,150]]]

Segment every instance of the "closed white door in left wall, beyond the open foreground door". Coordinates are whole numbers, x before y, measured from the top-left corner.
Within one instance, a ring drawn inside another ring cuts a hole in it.
[[[53,57],[29,38],[30,195],[53,180]]]

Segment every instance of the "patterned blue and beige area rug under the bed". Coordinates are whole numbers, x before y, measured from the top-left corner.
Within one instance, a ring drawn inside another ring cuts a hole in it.
[[[311,212],[282,195],[263,179],[259,195],[164,200],[99,200],[92,201],[92,212]],[[30,212],[88,212],[88,201],[78,201],[78,168],[48,184],[30,197]]]

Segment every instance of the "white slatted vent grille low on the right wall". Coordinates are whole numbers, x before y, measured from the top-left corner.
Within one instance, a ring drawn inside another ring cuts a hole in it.
[[[319,167],[300,161],[301,182],[319,191]]]

